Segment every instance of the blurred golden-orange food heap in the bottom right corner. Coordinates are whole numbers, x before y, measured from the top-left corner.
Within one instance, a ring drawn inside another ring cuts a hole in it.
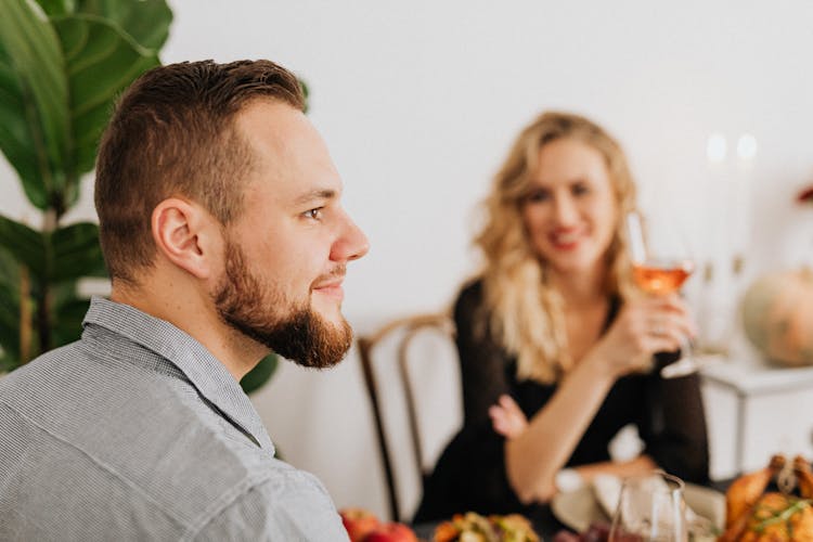
[[[776,479],[782,491],[765,492]],[[793,488],[799,495],[792,494]],[[756,473],[737,478],[725,494],[725,532],[720,542],[813,540],[813,472],[804,457],[774,455]]]

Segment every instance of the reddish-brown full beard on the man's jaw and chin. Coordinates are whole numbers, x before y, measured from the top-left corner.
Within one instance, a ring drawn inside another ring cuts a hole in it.
[[[302,366],[326,369],[341,361],[352,340],[347,321],[325,321],[311,308],[310,293],[297,304],[268,287],[245,260],[241,247],[227,237],[225,273],[212,296],[220,319]]]

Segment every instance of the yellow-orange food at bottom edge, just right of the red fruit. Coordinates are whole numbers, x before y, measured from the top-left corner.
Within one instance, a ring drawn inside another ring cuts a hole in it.
[[[435,529],[434,542],[540,542],[531,522],[519,514],[483,517],[455,514]]]

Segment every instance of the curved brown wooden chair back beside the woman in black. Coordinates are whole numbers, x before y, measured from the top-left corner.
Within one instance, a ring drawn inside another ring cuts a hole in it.
[[[418,314],[357,341],[390,517],[409,521],[424,478],[462,423],[454,323],[448,314]]]

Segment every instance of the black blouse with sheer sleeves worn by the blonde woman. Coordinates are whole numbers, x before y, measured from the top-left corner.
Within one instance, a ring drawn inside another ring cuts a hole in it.
[[[482,283],[460,294],[454,307],[463,384],[463,428],[441,454],[424,486],[415,521],[451,517],[459,512],[481,514],[527,512],[508,483],[504,437],[494,431],[488,409],[507,393],[530,420],[556,391],[556,384],[519,380],[516,358],[491,339],[483,328]],[[618,313],[615,299],[605,331]],[[674,353],[659,357],[662,366]],[[662,358],[662,359],[661,359]],[[644,441],[643,453],[661,468],[686,481],[708,481],[708,441],[697,374],[663,379],[658,371],[619,378],[596,412],[568,466],[609,461],[612,437],[633,423]]]

